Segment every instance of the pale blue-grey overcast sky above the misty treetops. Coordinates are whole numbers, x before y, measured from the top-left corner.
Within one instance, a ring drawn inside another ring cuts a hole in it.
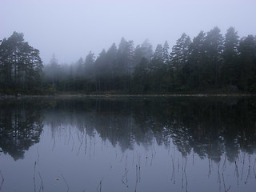
[[[218,26],[240,37],[256,34],[255,0],[0,0],[0,39],[17,31],[40,50],[44,63],[98,55],[122,37],[170,46],[183,32],[194,38]]]

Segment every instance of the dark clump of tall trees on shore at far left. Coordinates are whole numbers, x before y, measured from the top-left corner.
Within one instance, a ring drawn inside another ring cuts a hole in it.
[[[14,32],[0,44],[0,90],[10,94],[38,92],[42,88],[39,50]]]

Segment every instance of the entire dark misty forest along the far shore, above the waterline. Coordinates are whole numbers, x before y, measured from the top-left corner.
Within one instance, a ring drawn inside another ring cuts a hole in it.
[[[61,65],[54,56],[43,66],[39,51],[14,32],[0,45],[0,93],[171,94],[256,93],[256,36],[225,35],[216,26],[192,40],[134,46],[125,38],[98,57]]]

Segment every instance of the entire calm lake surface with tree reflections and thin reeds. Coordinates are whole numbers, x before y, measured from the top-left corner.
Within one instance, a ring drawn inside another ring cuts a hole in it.
[[[0,101],[0,191],[255,191],[254,98]]]

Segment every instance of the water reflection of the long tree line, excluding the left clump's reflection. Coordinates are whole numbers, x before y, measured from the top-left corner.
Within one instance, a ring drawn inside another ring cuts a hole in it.
[[[194,150],[218,162],[225,153],[234,162],[238,150],[255,152],[255,109],[249,98],[70,99],[56,100],[46,122],[71,124],[90,136],[97,131],[123,151],[172,140],[185,156]]]

